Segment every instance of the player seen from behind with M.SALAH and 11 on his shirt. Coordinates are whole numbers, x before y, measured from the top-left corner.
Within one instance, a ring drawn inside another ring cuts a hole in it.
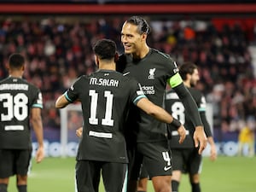
[[[99,70],[77,79],[59,96],[55,107],[64,108],[75,101],[82,104],[84,125],[77,154],[77,190],[98,191],[102,172],[106,191],[125,191],[128,158],[124,125],[131,105],[166,123],[172,122],[182,135],[180,142],[185,130],[163,108],[149,102],[135,79],[115,71],[118,54],[112,40],[98,40],[94,52]]]

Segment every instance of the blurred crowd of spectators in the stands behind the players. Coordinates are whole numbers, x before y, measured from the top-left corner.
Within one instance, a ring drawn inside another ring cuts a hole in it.
[[[177,66],[183,61],[198,65],[198,89],[212,103],[214,128],[239,131],[241,122],[250,120],[255,129],[256,80],[248,49],[255,34],[252,37],[253,32],[239,23],[217,27],[212,20],[146,19],[152,27],[148,38],[151,47],[170,54]],[[91,49],[96,39],[113,39],[122,53],[120,29],[124,20],[122,15],[87,20],[64,16],[61,20],[4,18],[0,20],[0,79],[7,76],[4,66],[10,54],[26,55],[24,78],[43,92],[44,127],[59,129],[55,99],[80,75],[96,70]]]

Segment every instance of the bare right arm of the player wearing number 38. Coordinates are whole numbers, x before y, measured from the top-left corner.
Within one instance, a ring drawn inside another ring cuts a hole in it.
[[[31,111],[32,128],[38,140],[36,161],[39,163],[44,159],[44,132],[41,117],[41,108],[32,108]]]

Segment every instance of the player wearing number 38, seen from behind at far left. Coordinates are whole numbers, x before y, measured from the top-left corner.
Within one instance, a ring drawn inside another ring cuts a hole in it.
[[[44,136],[41,119],[41,91],[22,75],[25,58],[9,56],[9,77],[0,82],[0,192],[7,192],[9,177],[16,175],[19,192],[26,192],[27,172],[32,155],[32,128],[38,139],[36,161],[44,159]]]

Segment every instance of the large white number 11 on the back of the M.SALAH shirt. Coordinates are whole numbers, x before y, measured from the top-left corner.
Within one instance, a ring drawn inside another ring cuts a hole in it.
[[[96,90],[90,90],[89,95],[91,97],[89,123],[91,125],[99,125],[99,119],[96,118],[96,110],[97,110],[99,94],[96,93]],[[106,97],[107,100],[106,100],[105,117],[104,119],[102,119],[102,125],[113,126],[113,119],[111,119],[112,108],[113,108],[113,94],[111,94],[109,90],[105,90],[104,96]]]

